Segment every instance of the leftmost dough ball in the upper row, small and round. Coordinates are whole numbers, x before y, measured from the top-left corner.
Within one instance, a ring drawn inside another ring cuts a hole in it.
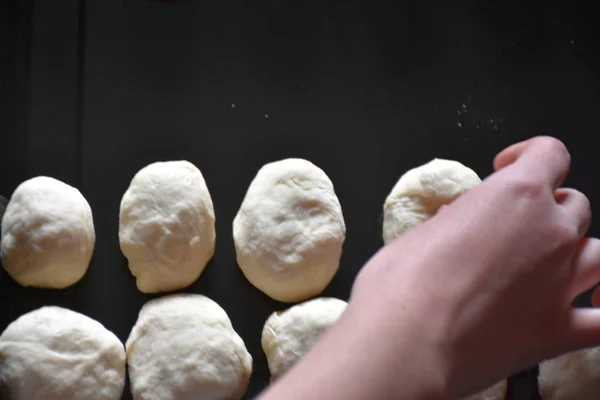
[[[40,176],[15,189],[2,218],[2,265],[23,286],[63,289],[87,272],[96,234],[79,190]]]

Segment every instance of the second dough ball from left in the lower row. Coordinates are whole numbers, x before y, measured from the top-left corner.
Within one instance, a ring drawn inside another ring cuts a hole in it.
[[[126,348],[134,400],[238,400],[252,373],[225,310],[196,294],[146,303]]]

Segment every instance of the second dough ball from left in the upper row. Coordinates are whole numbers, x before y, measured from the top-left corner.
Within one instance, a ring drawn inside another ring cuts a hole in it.
[[[142,168],[121,200],[119,242],[141,292],[194,283],[215,252],[215,212],[200,170],[187,161]]]

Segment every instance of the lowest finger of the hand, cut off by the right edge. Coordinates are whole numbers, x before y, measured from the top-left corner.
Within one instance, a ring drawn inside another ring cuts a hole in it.
[[[567,347],[576,350],[600,344],[600,308],[573,308],[567,332]]]

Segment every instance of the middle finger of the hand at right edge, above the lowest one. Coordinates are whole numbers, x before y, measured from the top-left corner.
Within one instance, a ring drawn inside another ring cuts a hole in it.
[[[575,259],[571,299],[600,282],[600,240],[585,238]],[[599,298],[600,300],[600,298]]]

